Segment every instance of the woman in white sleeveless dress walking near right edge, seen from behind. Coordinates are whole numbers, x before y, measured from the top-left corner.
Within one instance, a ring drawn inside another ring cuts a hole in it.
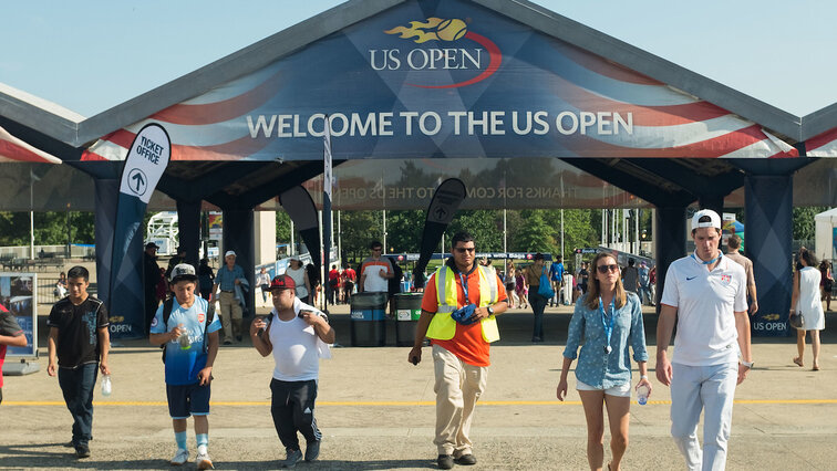
[[[810,349],[813,356],[812,370],[819,370],[819,331],[825,328],[825,313],[819,296],[819,281],[822,274],[814,253],[805,248],[799,249],[802,269],[794,273],[794,292],[790,295],[790,314],[803,317],[803,328],[796,331],[796,350],[798,356],[794,363],[805,366],[805,335],[810,332]]]

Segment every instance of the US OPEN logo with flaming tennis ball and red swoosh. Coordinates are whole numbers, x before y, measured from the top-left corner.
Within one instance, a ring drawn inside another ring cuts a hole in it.
[[[369,62],[375,71],[447,71],[445,77],[471,75],[459,82],[434,85],[406,83],[421,88],[456,88],[473,85],[497,72],[503,53],[488,38],[468,30],[467,21],[431,17],[426,21],[411,21],[410,27],[385,30],[386,34],[400,34],[400,39],[416,44],[428,43],[430,48],[372,49]],[[471,71],[473,74],[463,74]]]

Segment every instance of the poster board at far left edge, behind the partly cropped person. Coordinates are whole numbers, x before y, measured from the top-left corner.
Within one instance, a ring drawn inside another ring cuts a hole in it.
[[[0,273],[0,304],[14,315],[27,336],[27,346],[9,347],[7,358],[38,356],[37,283],[34,273]]]

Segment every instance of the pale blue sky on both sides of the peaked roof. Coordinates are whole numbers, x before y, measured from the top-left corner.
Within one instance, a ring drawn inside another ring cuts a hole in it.
[[[835,2],[535,2],[794,115],[837,102]],[[93,116],[340,3],[8,0],[0,83]]]

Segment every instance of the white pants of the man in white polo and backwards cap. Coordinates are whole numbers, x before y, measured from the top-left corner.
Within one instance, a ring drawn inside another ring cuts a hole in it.
[[[690,471],[726,467],[726,442],[732,427],[737,363],[712,366],[672,365],[671,436]],[[698,422],[703,415],[703,451]]]

